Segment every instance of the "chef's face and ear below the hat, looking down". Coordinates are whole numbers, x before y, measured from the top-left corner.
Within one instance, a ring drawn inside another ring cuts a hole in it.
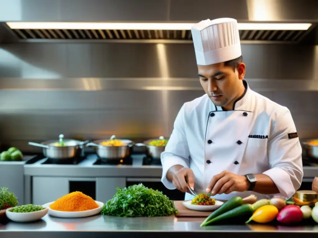
[[[224,63],[198,65],[200,83],[216,106],[225,107],[241,96],[244,74],[244,63],[239,63],[235,70]]]

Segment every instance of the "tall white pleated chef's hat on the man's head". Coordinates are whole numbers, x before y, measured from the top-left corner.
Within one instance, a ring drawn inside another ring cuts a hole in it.
[[[232,18],[204,20],[191,28],[197,64],[210,65],[241,56],[238,23]]]

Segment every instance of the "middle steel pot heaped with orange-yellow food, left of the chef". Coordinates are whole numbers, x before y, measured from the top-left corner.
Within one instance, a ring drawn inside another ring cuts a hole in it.
[[[122,159],[131,155],[135,143],[131,140],[116,139],[113,135],[106,140],[97,140],[87,143],[86,146],[93,146],[96,154],[101,159]]]

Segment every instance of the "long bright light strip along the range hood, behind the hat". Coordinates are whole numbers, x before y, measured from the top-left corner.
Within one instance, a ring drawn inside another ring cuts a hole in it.
[[[11,29],[191,30],[195,23],[7,22]],[[308,30],[311,23],[238,23],[239,30]]]

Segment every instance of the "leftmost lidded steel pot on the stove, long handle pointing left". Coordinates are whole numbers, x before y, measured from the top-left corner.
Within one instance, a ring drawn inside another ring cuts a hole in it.
[[[83,145],[89,141],[64,139],[59,135],[59,140],[50,140],[41,143],[29,142],[29,145],[42,147],[43,155],[52,160],[72,159],[83,156]]]

